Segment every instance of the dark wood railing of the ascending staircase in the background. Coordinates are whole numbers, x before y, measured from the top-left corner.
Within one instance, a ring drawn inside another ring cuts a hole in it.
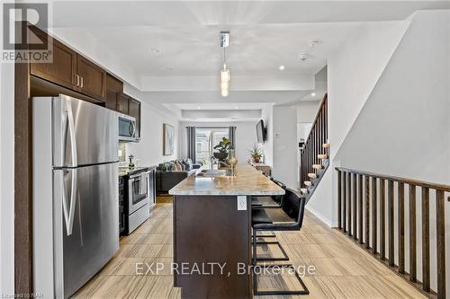
[[[328,123],[328,96],[325,93],[323,100],[320,102],[319,111],[312,124],[310,134],[301,150],[300,188],[302,188],[305,180],[309,180],[308,173],[315,172],[312,164],[321,164],[318,154],[329,154],[328,149],[327,153],[325,153],[325,149],[322,147],[328,143]],[[328,163],[326,166],[328,166]]]

